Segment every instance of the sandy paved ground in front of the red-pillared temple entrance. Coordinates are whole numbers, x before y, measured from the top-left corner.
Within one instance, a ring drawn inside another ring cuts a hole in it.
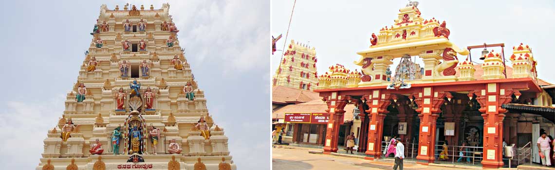
[[[313,154],[308,151],[320,150],[315,148],[302,148],[278,146],[272,151],[272,167],[274,170],[285,169],[393,169],[393,162],[367,161],[361,158],[347,158],[329,154]],[[451,170],[460,168],[422,166],[416,163],[403,163],[405,169],[441,169]]]

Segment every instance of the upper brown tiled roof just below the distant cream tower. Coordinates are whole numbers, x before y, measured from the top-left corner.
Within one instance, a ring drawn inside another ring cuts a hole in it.
[[[302,90],[286,86],[272,88],[272,102],[279,104],[307,102],[321,99],[320,94],[310,90]]]

